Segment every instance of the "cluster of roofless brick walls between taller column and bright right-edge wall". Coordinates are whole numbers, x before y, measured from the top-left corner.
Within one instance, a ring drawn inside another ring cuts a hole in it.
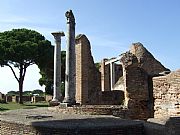
[[[151,65],[151,66],[150,66]],[[153,117],[153,80],[169,71],[141,43],[95,67],[90,42],[76,37],[76,102],[80,105],[123,105],[128,117]]]

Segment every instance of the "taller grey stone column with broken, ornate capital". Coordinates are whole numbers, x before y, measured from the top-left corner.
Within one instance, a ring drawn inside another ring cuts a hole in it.
[[[64,103],[75,104],[75,18],[72,10],[65,14],[67,18],[67,50],[66,50],[66,71],[65,71],[65,98]]]

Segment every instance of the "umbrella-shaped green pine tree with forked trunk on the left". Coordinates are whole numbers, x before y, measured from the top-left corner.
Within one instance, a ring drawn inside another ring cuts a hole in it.
[[[48,61],[53,54],[53,47],[36,31],[25,28],[13,29],[0,33],[0,54],[0,65],[9,67],[19,84],[19,103],[22,104],[23,83],[27,68],[37,64],[42,69],[43,63],[43,69],[46,69],[46,63],[49,64]],[[15,69],[19,70],[19,74]]]

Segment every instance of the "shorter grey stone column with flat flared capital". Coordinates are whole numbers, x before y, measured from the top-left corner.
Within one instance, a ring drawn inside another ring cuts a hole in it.
[[[51,33],[55,39],[54,47],[54,90],[53,90],[53,102],[59,102],[61,98],[61,37],[64,36],[64,32]]]

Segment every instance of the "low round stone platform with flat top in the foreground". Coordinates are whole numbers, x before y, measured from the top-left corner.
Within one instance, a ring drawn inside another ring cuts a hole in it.
[[[142,121],[57,113],[47,108],[3,112],[0,129],[0,135],[144,135]]]

